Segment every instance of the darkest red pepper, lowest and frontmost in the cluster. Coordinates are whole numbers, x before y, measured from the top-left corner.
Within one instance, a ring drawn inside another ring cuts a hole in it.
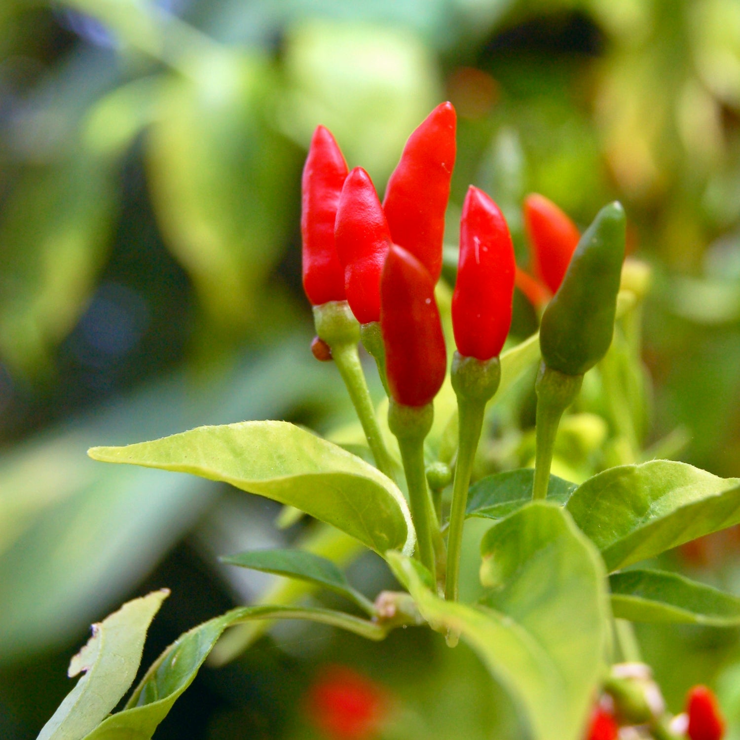
[[[380,329],[391,396],[404,406],[425,406],[445,380],[445,337],[434,280],[411,252],[395,244],[380,277]]]

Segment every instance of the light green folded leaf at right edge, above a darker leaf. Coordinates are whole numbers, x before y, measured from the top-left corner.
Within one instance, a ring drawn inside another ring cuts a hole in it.
[[[653,460],[589,478],[566,508],[616,571],[738,524],[740,480]]]

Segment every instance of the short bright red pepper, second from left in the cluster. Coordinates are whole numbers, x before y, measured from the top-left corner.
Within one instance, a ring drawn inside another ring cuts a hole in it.
[[[380,321],[380,273],[391,233],[370,175],[362,167],[355,167],[344,181],[334,240],[354,317],[363,324]]]

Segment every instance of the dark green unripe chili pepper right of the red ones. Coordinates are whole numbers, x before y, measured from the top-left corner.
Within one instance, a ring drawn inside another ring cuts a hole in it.
[[[614,202],[584,232],[562,285],[542,314],[539,345],[548,368],[582,375],[604,357],[614,331],[624,258],[625,210]]]

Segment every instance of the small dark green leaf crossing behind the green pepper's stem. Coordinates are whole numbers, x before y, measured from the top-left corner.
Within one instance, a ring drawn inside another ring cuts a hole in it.
[[[467,517],[503,519],[532,500],[534,468],[488,475],[471,485]],[[565,505],[578,486],[554,475],[550,476],[548,500]]]

